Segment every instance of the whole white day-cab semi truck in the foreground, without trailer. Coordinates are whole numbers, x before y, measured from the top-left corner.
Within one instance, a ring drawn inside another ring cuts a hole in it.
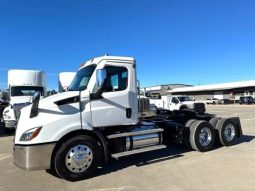
[[[240,120],[169,111],[146,115],[139,98],[136,62],[103,56],[87,61],[67,92],[21,110],[14,138],[14,164],[24,170],[52,169],[69,181],[91,176],[109,157],[163,149],[175,141],[205,152],[215,139],[225,146],[242,135]]]

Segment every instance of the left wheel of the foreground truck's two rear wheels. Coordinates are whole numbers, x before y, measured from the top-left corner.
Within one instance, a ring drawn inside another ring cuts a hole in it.
[[[200,140],[200,134],[204,132],[205,141]],[[207,135],[207,136],[206,136]],[[213,126],[207,122],[198,120],[190,126],[190,145],[191,147],[200,152],[206,152],[212,149],[215,141],[215,130]]]

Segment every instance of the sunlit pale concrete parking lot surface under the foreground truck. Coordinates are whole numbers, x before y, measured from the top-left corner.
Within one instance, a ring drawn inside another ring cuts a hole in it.
[[[255,106],[214,105],[207,112],[239,116],[243,136],[232,147],[200,153],[181,145],[111,160],[87,180],[67,182],[46,171],[22,171],[12,164],[11,134],[0,127],[1,191],[254,190]]]

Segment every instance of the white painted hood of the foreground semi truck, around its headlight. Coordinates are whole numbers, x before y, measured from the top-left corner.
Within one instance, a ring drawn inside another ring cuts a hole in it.
[[[79,102],[57,106],[54,102],[78,96],[79,92],[56,94],[39,102],[39,115],[29,118],[31,105],[21,110],[16,130],[16,144],[33,144],[58,141],[65,134],[81,129]],[[19,141],[21,135],[32,128],[42,126],[40,134],[31,141]]]

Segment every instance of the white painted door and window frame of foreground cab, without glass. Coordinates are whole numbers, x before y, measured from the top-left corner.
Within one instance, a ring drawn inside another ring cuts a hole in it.
[[[126,67],[128,70],[128,86],[126,90],[116,92],[104,92],[102,99],[91,101],[92,123],[94,127],[100,126],[116,126],[129,125],[137,122],[137,116],[134,111],[137,110],[137,105],[134,105],[134,100],[137,100],[136,87],[133,86],[135,70],[133,65],[122,62],[102,61],[98,68],[104,66]],[[97,69],[98,69],[97,68]],[[96,73],[96,72],[95,72]],[[92,76],[95,81],[96,76]],[[131,108],[133,115],[131,118],[126,117],[126,109]]]

